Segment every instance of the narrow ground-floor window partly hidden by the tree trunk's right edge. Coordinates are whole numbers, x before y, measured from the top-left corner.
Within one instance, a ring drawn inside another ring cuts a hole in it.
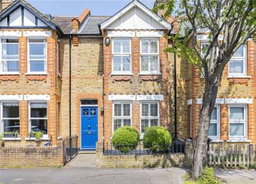
[[[210,115],[210,127],[209,127],[209,138],[219,139],[220,138],[220,108],[216,106],[213,108],[213,112]]]

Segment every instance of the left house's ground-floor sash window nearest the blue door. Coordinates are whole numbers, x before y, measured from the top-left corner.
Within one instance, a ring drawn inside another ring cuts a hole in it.
[[[29,113],[29,131],[40,131],[47,134],[47,102],[30,102]]]

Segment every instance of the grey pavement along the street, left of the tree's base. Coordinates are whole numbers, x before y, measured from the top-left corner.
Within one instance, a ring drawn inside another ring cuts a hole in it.
[[[182,184],[186,173],[180,168],[100,169],[63,167],[51,169],[0,169],[1,184]]]

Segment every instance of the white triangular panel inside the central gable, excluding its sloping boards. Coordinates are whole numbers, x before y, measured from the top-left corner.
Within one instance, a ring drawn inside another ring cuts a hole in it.
[[[126,14],[116,19],[111,25],[107,27],[108,29],[131,29],[131,30],[155,30],[155,29],[166,29],[159,22],[155,21],[148,14],[143,12],[137,6],[130,9]]]

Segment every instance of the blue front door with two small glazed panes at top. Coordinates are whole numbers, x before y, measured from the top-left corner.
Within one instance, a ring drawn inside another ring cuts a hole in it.
[[[98,108],[81,108],[81,149],[95,149],[98,141]]]

